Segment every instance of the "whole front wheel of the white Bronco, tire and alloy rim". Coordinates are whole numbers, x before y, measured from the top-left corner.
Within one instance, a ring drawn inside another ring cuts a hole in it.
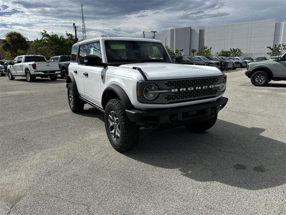
[[[104,121],[107,137],[116,151],[127,151],[136,146],[139,140],[139,127],[129,121],[119,99],[110,99],[107,102]]]

